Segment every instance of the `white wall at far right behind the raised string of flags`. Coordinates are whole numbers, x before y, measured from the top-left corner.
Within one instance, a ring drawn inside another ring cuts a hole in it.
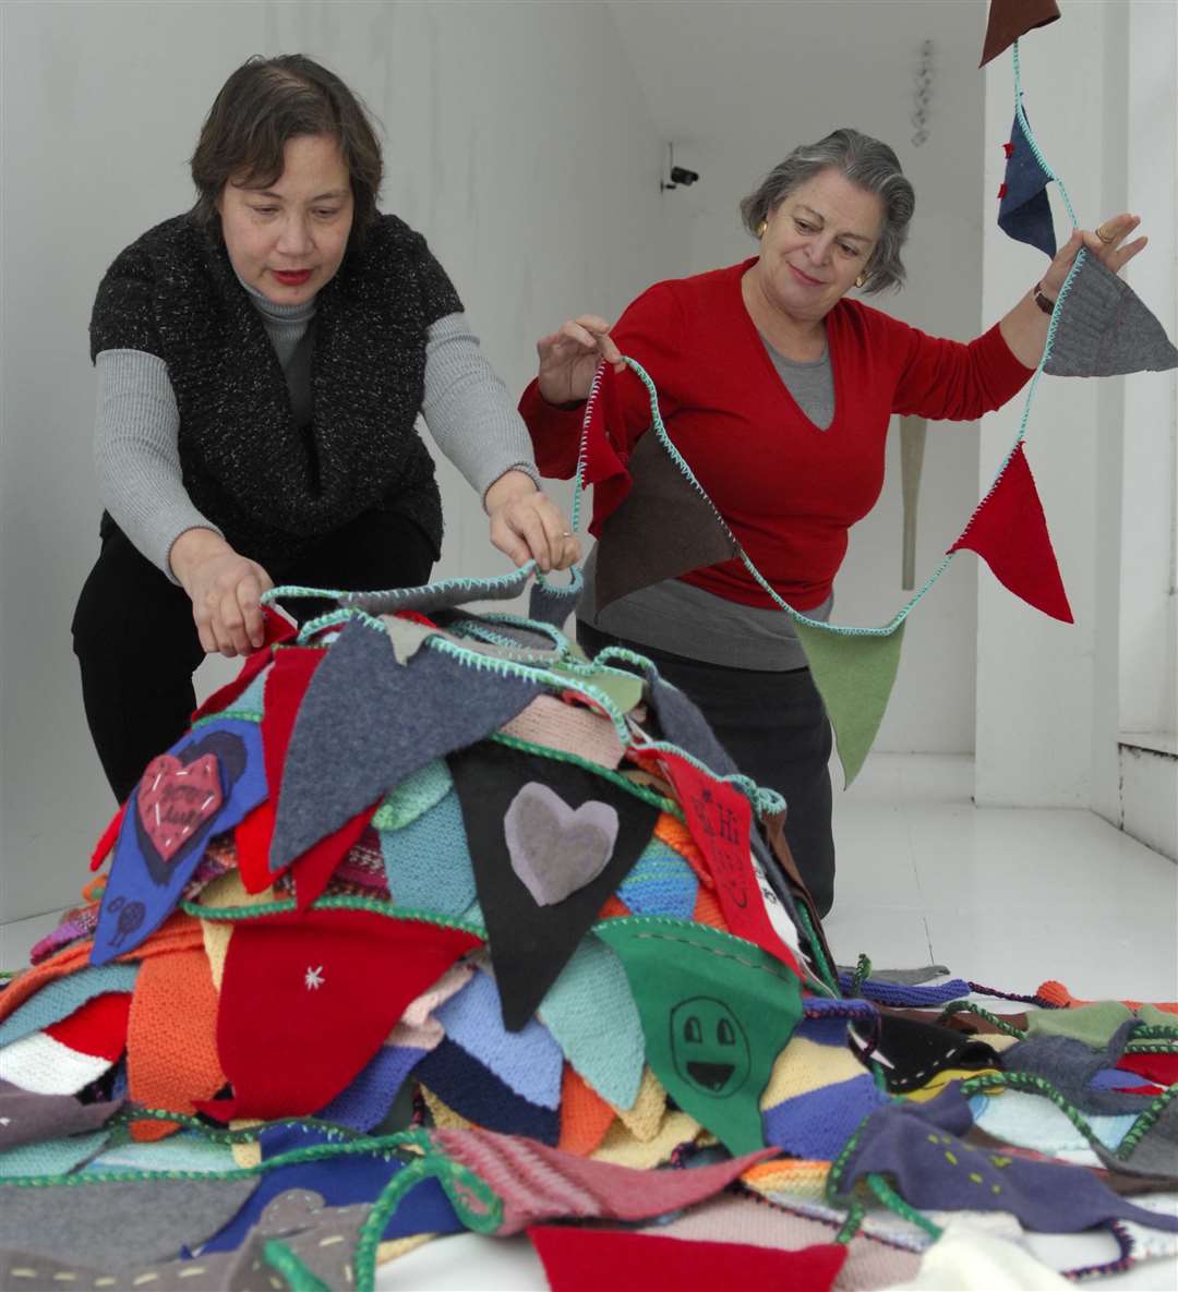
[[[1124,209],[1142,214],[1152,245],[1126,278],[1173,332],[1173,6],[1069,5],[1064,21],[1028,35],[1020,53],[1032,127],[1080,221],[1094,227]],[[1003,57],[985,76],[987,190],[1001,182],[1000,145],[1012,114]],[[1054,186],[1051,194],[1063,238],[1067,217]],[[1040,252],[988,222],[987,313],[1025,291],[1044,265]],[[1014,438],[1020,407],[983,424],[983,487]],[[1040,384],[1027,456],[1076,624],[980,583],[979,802],[1093,806],[1120,824],[1117,736],[1126,716],[1153,730],[1173,724],[1173,373]]]

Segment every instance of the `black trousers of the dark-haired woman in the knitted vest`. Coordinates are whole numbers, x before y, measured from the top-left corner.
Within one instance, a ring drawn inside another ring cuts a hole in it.
[[[412,521],[370,512],[268,572],[275,584],[309,588],[410,588],[428,581],[433,556]],[[327,607],[316,601],[291,609],[306,619]],[[123,802],[144,767],[184,735],[197,707],[193,673],[204,651],[193,603],[114,528],[81,589],[72,632],[91,736]]]

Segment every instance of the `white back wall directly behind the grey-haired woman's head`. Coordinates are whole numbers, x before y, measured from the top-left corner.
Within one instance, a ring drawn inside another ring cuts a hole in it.
[[[852,125],[892,145],[917,191],[904,256],[908,286],[868,302],[965,341],[994,320],[993,310],[981,310],[983,212],[993,218],[989,208],[996,207],[981,200],[981,0],[619,0],[613,9],[644,72],[656,121],[676,142],[676,162],[701,173],[693,187],[669,194],[691,221],[685,271],[753,255],[754,243],[740,225],[740,199],[794,145]],[[934,43],[932,96],[928,140],[916,147],[910,115],[925,40]],[[834,618],[841,623],[886,623],[910,596],[900,587],[899,448],[894,425],[883,495],[852,530],[835,581]],[[930,425],[918,506],[918,585],[978,497],[976,424]],[[972,751],[978,578],[976,558],[958,557],[910,618],[878,751]]]

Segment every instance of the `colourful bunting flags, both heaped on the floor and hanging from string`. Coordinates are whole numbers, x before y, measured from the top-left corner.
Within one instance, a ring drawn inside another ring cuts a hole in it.
[[[1068,298],[1141,320],[1109,278]],[[1062,301],[1051,362],[1085,345],[1122,362]],[[595,416],[605,543],[687,477],[648,435],[623,481]],[[1022,446],[956,547],[1066,618]],[[458,1233],[526,1233],[553,1292],[1067,1286],[1037,1234],[1104,1244],[1073,1279],[1173,1260],[1178,1005],[837,965],[780,797],[533,575],[268,609],[145,769],[0,982],[0,1287],[365,1292]],[[803,627],[820,685],[848,642],[894,674],[899,632]]]

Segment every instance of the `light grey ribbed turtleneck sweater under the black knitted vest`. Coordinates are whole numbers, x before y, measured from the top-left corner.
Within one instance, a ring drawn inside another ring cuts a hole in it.
[[[246,286],[246,284],[243,284]],[[296,425],[312,415],[314,301],[275,305],[246,286],[282,370]],[[94,460],[102,503],[127,537],[172,581],[168,556],[186,530],[220,532],[193,505],[180,468],[180,411],[163,359],[142,350],[103,350],[98,373]],[[539,483],[528,429],[463,314],[427,333],[422,415],[438,447],[480,499],[508,470]]]

